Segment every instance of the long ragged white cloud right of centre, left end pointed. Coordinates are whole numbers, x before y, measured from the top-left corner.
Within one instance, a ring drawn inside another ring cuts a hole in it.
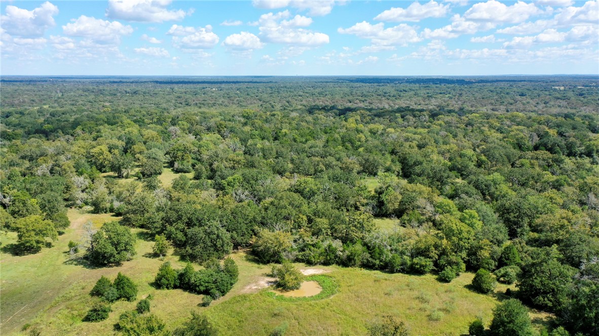
[[[401,23],[400,25],[385,28],[383,23],[371,25],[368,22],[359,22],[350,28],[339,28],[341,34],[352,34],[359,38],[370,39],[373,45],[407,45],[422,41],[413,26]]]

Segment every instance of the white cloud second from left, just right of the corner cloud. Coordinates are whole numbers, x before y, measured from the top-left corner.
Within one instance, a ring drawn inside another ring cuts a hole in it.
[[[118,44],[122,36],[133,32],[131,26],[125,26],[118,21],[110,22],[84,15],[72,21],[62,26],[66,35],[88,38],[99,44]]]

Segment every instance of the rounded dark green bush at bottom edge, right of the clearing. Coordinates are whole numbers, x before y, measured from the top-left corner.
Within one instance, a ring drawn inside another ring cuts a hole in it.
[[[503,301],[495,307],[489,329],[492,336],[533,335],[528,309],[516,299]]]

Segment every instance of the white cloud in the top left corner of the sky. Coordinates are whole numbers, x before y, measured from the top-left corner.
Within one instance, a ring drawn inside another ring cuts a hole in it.
[[[53,18],[56,14],[58,7],[48,1],[31,11],[8,5],[1,17],[2,28],[13,36],[41,37],[46,29],[56,25]]]

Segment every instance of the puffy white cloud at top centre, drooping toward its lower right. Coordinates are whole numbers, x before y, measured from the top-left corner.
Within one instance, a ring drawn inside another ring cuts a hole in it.
[[[282,11],[277,14],[263,14],[255,24],[259,26],[260,38],[262,41],[272,43],[282,43],[301,46],[317,46],[327,44],[329,36],[325,33],[313,32],[307,29],[292,28],[293,25],[306,25],[308,17],[295,16],[292,20],[288,19],[289,11]],[[283,20],[283,21],[282,21]]]

